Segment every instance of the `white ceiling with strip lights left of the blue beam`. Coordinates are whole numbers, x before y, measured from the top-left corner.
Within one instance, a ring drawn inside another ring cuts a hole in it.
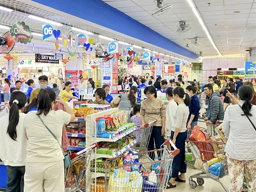
[[[155,50],[157,52],[161,52],[164,54],[168,54],[170,56],[174,56],[177,58],[182,58],[182,59],[189,59],[189,58],[185,58],[182,57],[179,54],[173,54],[172,52],[168,51],[168,50],[164,50],[161,48],[156,48],[156,46],[154,45],[150,45],[148,43],[143,43],[141,41],[136,41],[132,38],[128,38],[127,36],[122,36],[122,34],[120,35],[116,35],[114,32],[109,32],[106,28],[106,30],[103,30],[101,26],[96,27],[96,24],[88,24],[87,21],[85,20],[75,20],[75,19],[71,19],[68,17],[64,17],[62,15],[56,14],[56,12],[50,12],[46,9],[40,9],[38,7],[35,6],[31,6],[30,4],[27,4],[30,1],[28,0],[0,0],[0,6],[4,6],[6,8],[11,8],[13,10],[16,10],[15,12],[5,12],[0,10],[0,25],[4,25],[4,26],[9,26],[11,27],[16,21],[25,21],[26,24],[30,27],[30,30],[32,32],[37,32],[37,33],[41,33],[42,34],[42,25],[46,24],[44,22],[40,22],[38,20],[33,20],[31,18],[28,18],[28,14],[34,15],[34,16],[38,16],[38,17],[42,17],[42,18],[46,18],[48,20],[53,20],[56,22],[60,22],[62,23],[62,26],[59,26],[58,29],[60,29],[61,34],[62,33],[66,33],[66,30],[69,28],[69,26],[74,26],[76,28],[80,28],[82,30],[86,30],[86,31],[90,31],[93,32],[94,35],[88,35],[89,38],[94,38],[94,42],[101,42],[101,44],[108,44],[110,41],[109,40],[105,40],[102,38],[99,38],[98,35],[102,35],[102,36],[107,36],[107,37],[111,37],[113,39],[115,39],[115,41],[117,42],[119,41],[124,41],[124,42],[128,42],[137,46],[141,46],[147,49],[151,49],[151,50]],[[0,34],[7,32],[8,30],[6,29],[1,29],[0,28]],[[79,32],[77,32],[79,33]],[[40,42],[38,40],[42,40],[41,36],[34,36],[33,40],[32,40],[32,44],[30,45],[31,49],[33,47],[33,42],[36,41],[36,43],[38,44],[38,47],[40,46]],[[41,41],[42,42],[42,41]],[[54,47],[54,42],[49,42],[49,44],[51,43],[51,46]],[[46,42],[44,42],[44,46]],[[60,48],[61,48],[62,44],[60,43]],[[50,49],[52,49],[52,47]],[[123,45],[119,44],[119,48],[122,48]],[[135,51],[139,51],[139,49],[134,48]],[[140,53],[143,54],[143,49],[140,49]],[[45,51],[42,50],[39,51],[40,53],[44,53]]]

